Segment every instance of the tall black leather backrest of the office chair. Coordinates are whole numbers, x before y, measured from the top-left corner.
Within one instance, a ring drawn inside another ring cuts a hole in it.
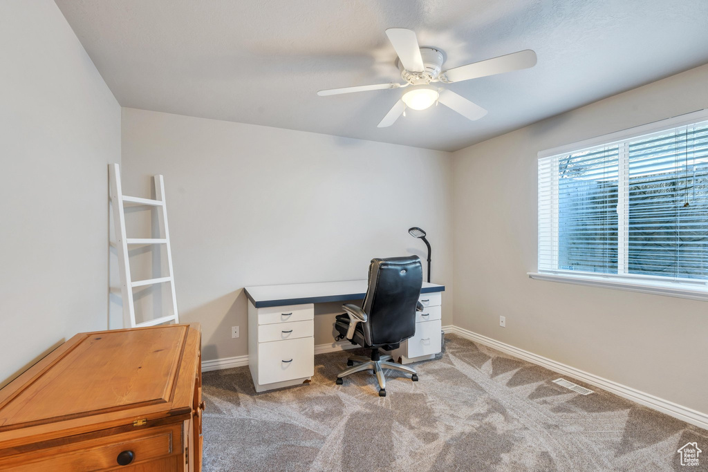
[[[421,296],[423,267],[417,255],[372,259],[369,288],[362,309],[362,328],[371,345],[400,343],[416,333],[416,304]]]

